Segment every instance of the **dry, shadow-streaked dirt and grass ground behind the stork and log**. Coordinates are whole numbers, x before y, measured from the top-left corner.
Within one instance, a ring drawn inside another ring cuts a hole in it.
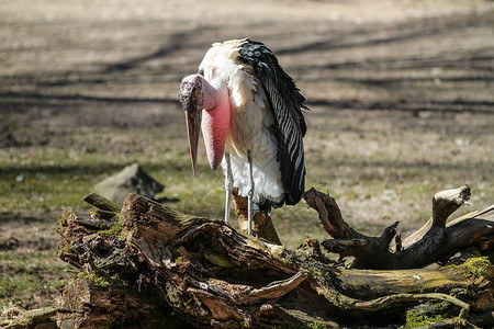
[[[404,236],[435,192],[494,201],[492,1],[0,0],[0,307],[50,303],[70,275],[55,223],[138,161],[183,212],[217,217],[223,178],[192,178],[182,77],[209,46],[249,37],[277,54],[311,111],[306,188],[357,229]],[[301,203],[273,213],[282,241],[325,238]]]

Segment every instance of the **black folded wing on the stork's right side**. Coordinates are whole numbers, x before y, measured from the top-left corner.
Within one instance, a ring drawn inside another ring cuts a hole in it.
[[[280,162],[285,203],[296,204],[305,188],[302,140],[307,131],[302,113],[302,110],[307,110],[305,98],[262,43],[245,39],[239,45],[239,60],[252,68],[269,99],[276,120],[272,129],[278,138],[277,160]]]

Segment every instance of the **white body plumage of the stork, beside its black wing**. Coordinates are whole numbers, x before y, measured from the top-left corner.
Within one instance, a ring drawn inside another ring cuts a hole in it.
[[[262,204],[284,201],[280,163],[277,160],[278,141],[272,126],[274,117],[269,101],[259,81],[238,63],[239,41],[215,44],[206,53],[200,68],[211,81],[222,77],[227,81],[232,105],[232,123],[226,138],[225,152],[231,155],[233,186],[242,196],[249,190],[247,150],[252,156],[252,201]],[[226,170],[225,158],[222,161]]]

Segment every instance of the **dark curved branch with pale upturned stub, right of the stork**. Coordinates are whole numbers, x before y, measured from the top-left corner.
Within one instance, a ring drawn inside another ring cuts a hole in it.
[[[392,252],[390,245],[396,235],[397,222],[381,237],[368,237],[353,230],[341,217],[335,200],[314,189],[304,193],[308,206],[319,213],[325,230],[334,238],[322,246],[341,258],[352,256],[356,269],[415,269],[447,261],[470,247],[486,250],[494,242],[494,207],[472,217],[463,217],[446,225],[448,217],[470,197],[470,188],[438,192],[433,198],[433,218],[413,239],[405,239],[406,248]],[[412,243],[413,242],[413,243]]]

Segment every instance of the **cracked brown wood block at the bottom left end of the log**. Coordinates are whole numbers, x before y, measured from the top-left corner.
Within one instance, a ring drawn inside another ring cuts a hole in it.
[[[74,277],[57,299],[58,328],[183,328],[159,292],[150,287]]]

